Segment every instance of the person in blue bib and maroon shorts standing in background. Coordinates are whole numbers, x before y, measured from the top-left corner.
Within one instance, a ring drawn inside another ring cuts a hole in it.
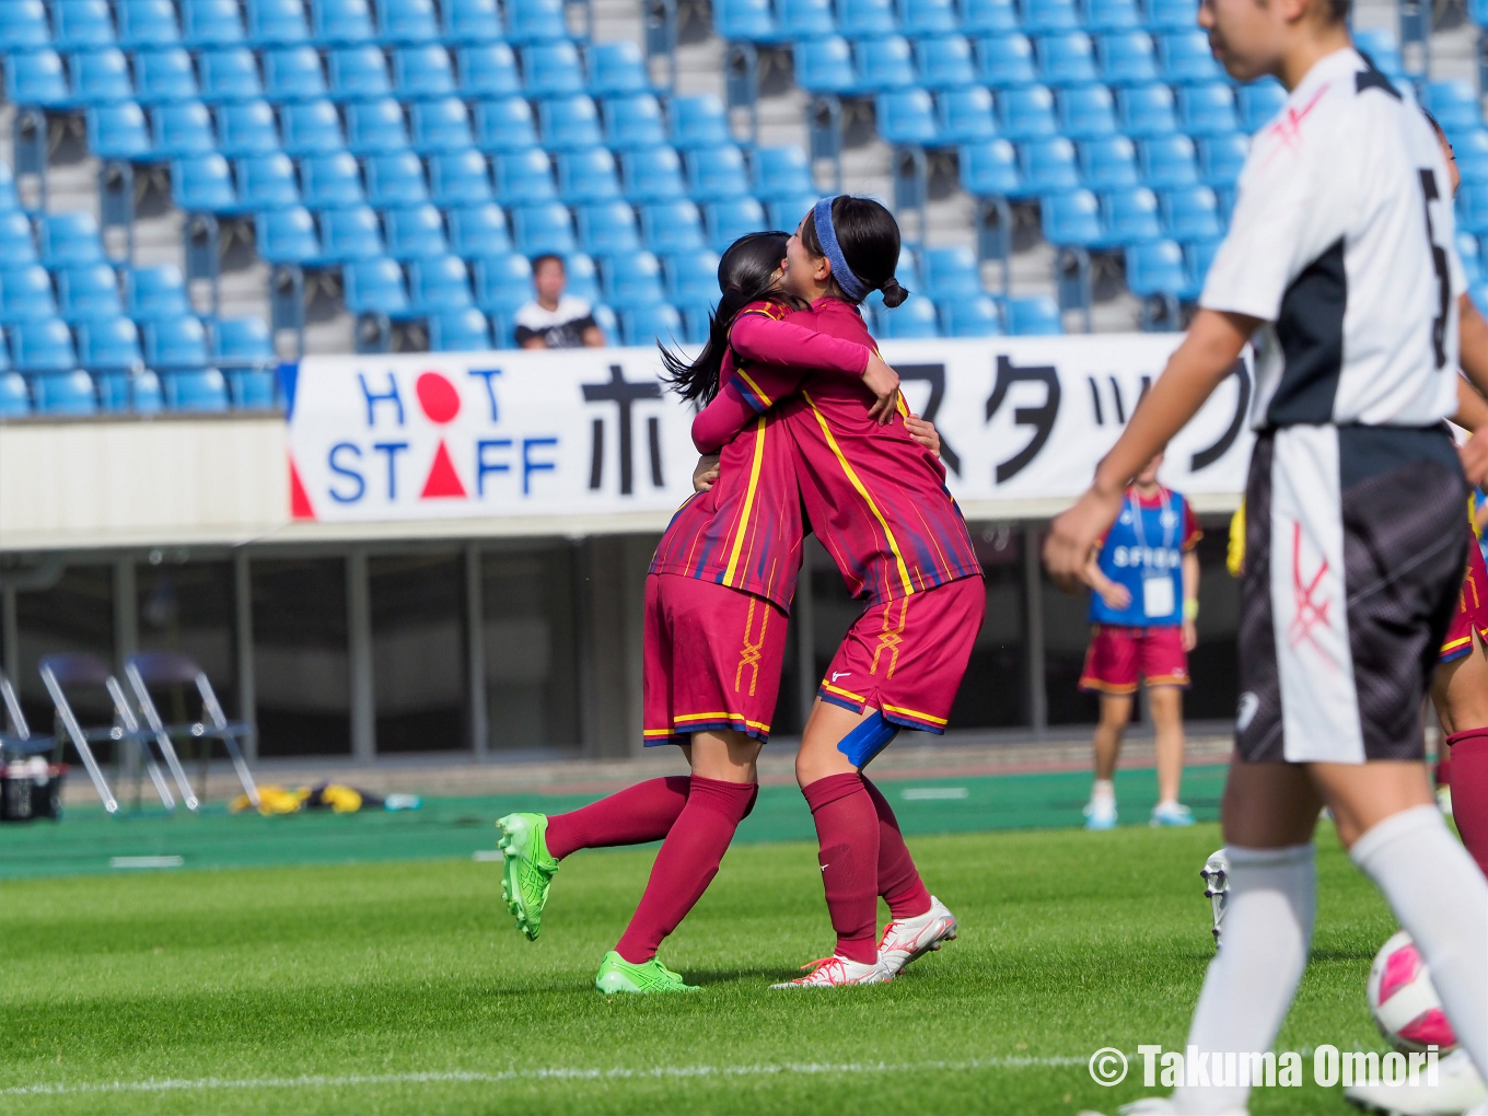
[[[1202,537],[1181,494],[1158,484],[1162,454],[1126,490],[1126,501],[1086,570],[1091,594],[1091,649],[1080,689],[1101,695],[1095,728],[1095,784],[1085,808],[1086,829],[1116,824],[1116,757],[1131,720],[1137,680],[1146,679],[1158,735],[1158,805],[1153,826],[1192,826],[1178,802],[1183,777],[1183,690],[1189,652],[1198,641]]]

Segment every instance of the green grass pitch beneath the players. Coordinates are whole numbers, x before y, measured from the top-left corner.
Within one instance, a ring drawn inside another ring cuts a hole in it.
[[[1219,844],[1210,823],[912,836],[960,940],[824,992],[766,990],[830,948],[814,847],[738,845],[662,951],[704,990],[610,1000],[594,970],[653,850],[573,857],[536,943],[469,859],[10,879],[0,1112],[1110,1113],[1146,1092],[1137,1062],[1104,1089],[1085,1059],[1181,1048]],[[1318,876],[1278,1046],[1381,1049],[1364,975],[1394,923],[1330,832]],[[1351,1110],[1308,1083],[1253,1112]]]

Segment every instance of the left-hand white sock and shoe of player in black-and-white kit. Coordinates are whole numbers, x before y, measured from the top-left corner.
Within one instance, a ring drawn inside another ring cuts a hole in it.
[[[1189,1028],[1201,1054],[1265,1052],[1287,1018],[1312,948],[1317,872],[1312,845],[1229,845],[1225,943],[1210,961]],[[1178,1112],[1190,1116],[1244,1112],[1248,1086],[1180,1086]]]

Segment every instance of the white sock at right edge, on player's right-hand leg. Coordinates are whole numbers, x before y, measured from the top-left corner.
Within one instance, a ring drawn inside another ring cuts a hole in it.
[[[1488,879],[1436,806],[1387,817],[1350,856],[1415,939],[1457,1040],[1488,1077]]]

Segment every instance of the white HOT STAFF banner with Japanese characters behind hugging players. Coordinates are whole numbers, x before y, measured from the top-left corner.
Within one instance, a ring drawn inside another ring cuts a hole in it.
[[[940,432],[951,491],[1062,498],[1089,484],[1178,335],[882,345]],[[293,510],[326,522],[670,512],[692,493],[693,411],[656,350],[310,357],[284,366]],[[1244,488],[1250,373],[1238,363],[1174,439],[1164,481]],[[1012,506],[1009,503],[1009,506]],[[540,530],[540,524],[534,524]]]

